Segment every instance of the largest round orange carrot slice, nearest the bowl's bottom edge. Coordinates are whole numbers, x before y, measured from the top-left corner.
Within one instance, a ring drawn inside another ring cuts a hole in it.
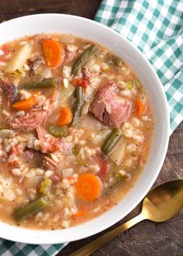
[[[101,195],[102,182],[97,176],[85,173],[79,175],[78,181],[75,183],[75,189],[79,199],[91,202]]]

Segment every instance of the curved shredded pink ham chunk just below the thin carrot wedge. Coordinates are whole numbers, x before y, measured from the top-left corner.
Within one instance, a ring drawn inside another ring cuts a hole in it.
[[[9,126],[14,130],[31,131],[46,122],[47,117],[50,116],[52,109],[57,105],[58,92],[54,91],[50,98],[47,99],[43,106],[36,106],[26,111],[23,115],[17,116],[12,114],[9,119]]]

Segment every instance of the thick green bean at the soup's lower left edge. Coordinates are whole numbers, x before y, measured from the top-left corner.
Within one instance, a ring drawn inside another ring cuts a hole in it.
[[[16,209],[14,217],[16,221],[24,220],[27,216],[40,212],[42,209],[49,206],[50,202],[45,197],[40,197],[33,202],[28,202],[26,206]]]

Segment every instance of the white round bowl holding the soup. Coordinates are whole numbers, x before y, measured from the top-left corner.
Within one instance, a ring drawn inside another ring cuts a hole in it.
[[[57,244],[89,237],[112,226],[131,212],[150,190],[161,170],[168,145],[169,115],[164,88],[154,68],[128,40],[107,26],[78,16],[40,14],[0,24],[0,45],[36,33],[72,33],[101,43],[123,58],[147,90],[154,112],[154,138],[149,160],[134,188],[119,204],[97,218],[65,230],[26,230],[0,222],[0,236],[27,244]]]

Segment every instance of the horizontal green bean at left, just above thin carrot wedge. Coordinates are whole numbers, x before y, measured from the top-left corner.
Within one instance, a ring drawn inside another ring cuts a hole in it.
[[[22,85],[25,89],[35,89],[35,88],[55,88],[57,87],[57,78],[48,78],[42,81],[29,82]]]

